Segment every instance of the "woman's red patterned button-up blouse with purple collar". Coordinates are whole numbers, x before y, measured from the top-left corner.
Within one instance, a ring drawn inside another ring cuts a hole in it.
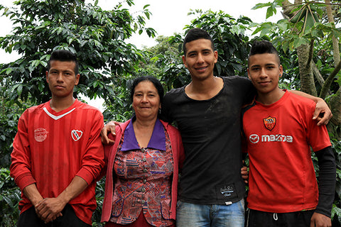
[[[143,211],[152,226],[171,226],[171,182],[173,155],[171,141],[156,121],[147,148],[140,148],[132,121],[121,138],[114,161],[114,195],[109,221],[134,222]]]

